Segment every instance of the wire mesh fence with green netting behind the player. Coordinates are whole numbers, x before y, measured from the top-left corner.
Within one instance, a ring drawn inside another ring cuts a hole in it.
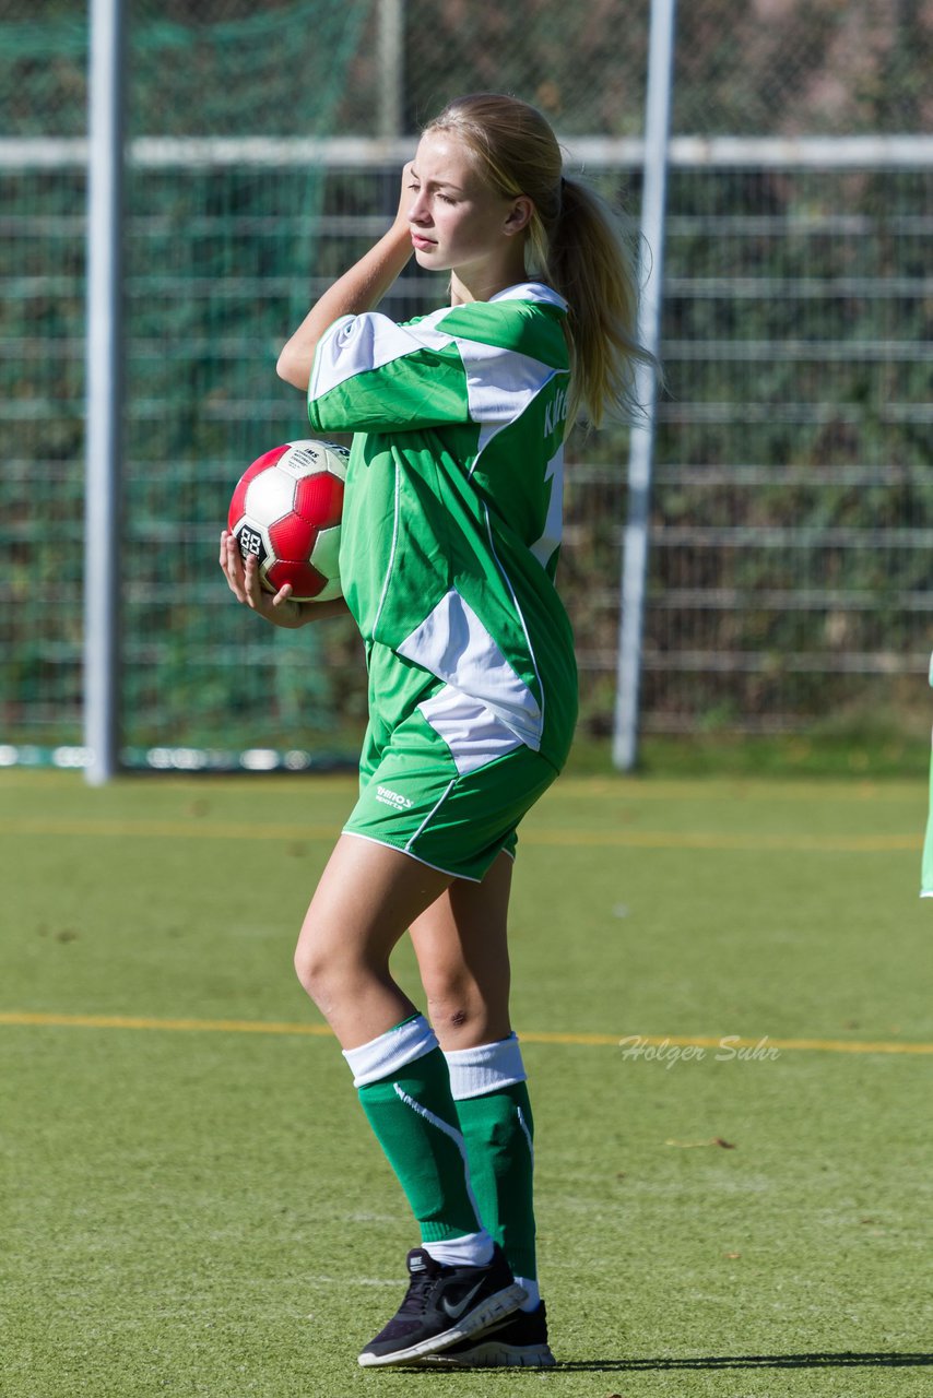
[[[277,350],[382,231],[401,152],[456,92],[536,102],[636,217],[648,0],[127,14],[124,742],[134,761],[350,754],[351,628],[250,626],[214,562],[242,467],[306,435]],[[932,34],[929,6],[898,0],[681,4],[649,730],[804,728],[922,692],[933,143],[892,157],[873,138],[929,131]],[[81,735],[87,49],[73,4],[0,0],[0,742],[18,756]],[[413,270],[389,309],[436,298]],[[613,710],[627,450],[620,428],[569,452],[562,586],[593,733]]]

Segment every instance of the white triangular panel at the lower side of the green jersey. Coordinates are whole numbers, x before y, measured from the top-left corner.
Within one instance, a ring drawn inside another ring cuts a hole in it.
[[[491,709],[519,742],[539,751],[543,714],[537,699],[455,587],[396,651]]]

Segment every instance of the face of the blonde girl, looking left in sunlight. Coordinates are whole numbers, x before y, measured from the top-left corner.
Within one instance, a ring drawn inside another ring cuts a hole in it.
[[[491,190],[469,147],[452,131],[421,137],[408,193],[411,242],[421,267],[471,280],[506,257],[523,257],[516,233],[527,224],[530,201]]]

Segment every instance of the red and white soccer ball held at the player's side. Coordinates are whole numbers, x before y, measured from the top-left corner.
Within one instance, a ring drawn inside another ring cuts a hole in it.
[[[228,527],[243,559],[259,559],[269,593],[291,583],[299,603],[340,597],[340,516],[348,450],[334,442],[287,442],[241,475]]]

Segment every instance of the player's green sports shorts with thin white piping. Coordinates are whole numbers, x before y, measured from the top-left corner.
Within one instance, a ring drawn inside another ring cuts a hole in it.
[[[382,737],[372,723],[366,730],[359,800],[344,833],[480,882],[504,850],[515,854],[519,821],[555,777],[555,768],[523,744],[460,770],[415,709]]]

